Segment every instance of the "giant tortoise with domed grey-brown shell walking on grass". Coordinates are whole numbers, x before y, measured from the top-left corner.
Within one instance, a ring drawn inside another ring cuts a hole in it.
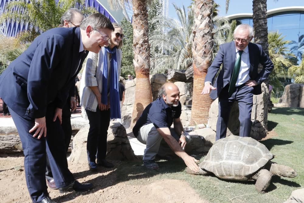
[[[205,160],[199,164],[199,173],[189,168],[186,172],[200,175],[214,173],[226,180],[256,181],[255,188],[264,193],[273,175],[297,176],[292,168],[271,162],[273,158],[265,145],[253,138],[230,135],[214,143]]]

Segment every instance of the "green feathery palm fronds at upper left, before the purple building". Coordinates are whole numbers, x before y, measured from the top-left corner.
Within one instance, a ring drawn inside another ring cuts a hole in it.
[[[93,7],[85,7],[84,0],[31,0],[10,1],[0,16],[0,22],[5,21],[29,24],[29,30],[19,33],[18,42],[32,42],[39,34],[57,27],[63,13],[70,8],[78,8],[85,15],[97,12]],[[22,11],[22,12],[21,12]]]

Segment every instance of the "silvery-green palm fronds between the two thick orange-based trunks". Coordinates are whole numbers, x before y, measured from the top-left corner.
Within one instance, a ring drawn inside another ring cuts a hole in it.
[[[150,33],[151,49],[161,50],[152,58],[152,73],[162,73],[170,68],[185,70],[192,65],[192,27],[194,25],[193,9],[188,12],[173,4],[178,21],[164,17],[156,17],[159,21],[156,30]]]

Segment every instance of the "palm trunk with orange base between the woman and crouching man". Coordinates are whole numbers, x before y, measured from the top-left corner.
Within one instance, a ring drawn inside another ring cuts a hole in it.
[[[133,0],[133,64],[136,89],[130,127],[133,127],[144,108],[152,102],[150,83],[150,45],[148,38],[148,12],[146,0]]]

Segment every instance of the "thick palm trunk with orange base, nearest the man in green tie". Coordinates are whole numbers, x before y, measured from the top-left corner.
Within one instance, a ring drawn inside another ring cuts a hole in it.
[[[192,124],[207,123],[212,99],[209,95],[202,95],[207,69],[212,57],[212,29],[213,29],[213,0],[195,0],[195,34],[193,52],[193,96],[191,120]]]

